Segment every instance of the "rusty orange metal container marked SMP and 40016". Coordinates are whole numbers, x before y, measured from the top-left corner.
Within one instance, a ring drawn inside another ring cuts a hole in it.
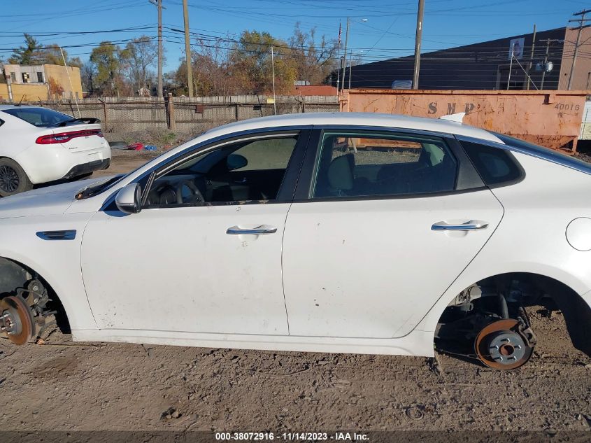
[[[439,118],[465,112],[464,123],[548,148],[576,151],[590,91],[345,90],[341,111]]]

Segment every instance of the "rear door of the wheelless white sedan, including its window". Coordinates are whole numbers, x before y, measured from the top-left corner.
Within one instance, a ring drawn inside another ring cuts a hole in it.
[[[317,136],[285,225],[290,335],[404,336],[490,238],[502,206],[452,138]]]

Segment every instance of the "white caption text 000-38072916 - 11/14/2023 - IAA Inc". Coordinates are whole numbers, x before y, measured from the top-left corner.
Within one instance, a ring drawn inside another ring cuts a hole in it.
[[[320,440],[334,440],[336,442],[368,442],[369,437],[364,433],[215,433],[215,440],[223,441],[263,441],[284,440],[288,442],[318,442]]]

